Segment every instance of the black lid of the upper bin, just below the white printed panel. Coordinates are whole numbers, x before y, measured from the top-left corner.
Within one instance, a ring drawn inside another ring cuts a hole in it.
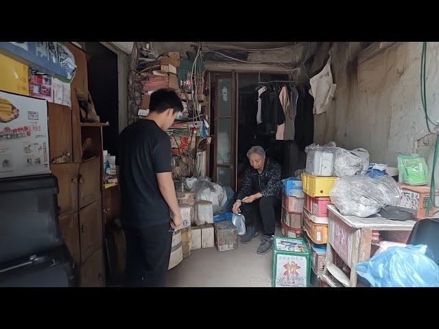
[[[0,193],[33,188],[58,188],[56,176],[51,174],[0,179]]]

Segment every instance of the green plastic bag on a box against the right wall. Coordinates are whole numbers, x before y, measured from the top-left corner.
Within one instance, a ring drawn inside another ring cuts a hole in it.
[[[399,182],[412,186],[426,185],[427,162],[418,154],[401,154],[398,156]]]

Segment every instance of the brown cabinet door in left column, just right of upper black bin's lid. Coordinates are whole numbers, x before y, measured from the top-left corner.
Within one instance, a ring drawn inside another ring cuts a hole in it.
[[[52,174],[58,178],[58,210],[61,214],[78,211],[79,163],[52,164]]]

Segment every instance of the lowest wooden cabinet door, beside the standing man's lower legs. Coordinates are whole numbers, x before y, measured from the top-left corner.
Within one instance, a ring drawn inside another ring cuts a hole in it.
[[[103,287],[105,284],[104,249],[98,249],[81,266],[82,287]]]

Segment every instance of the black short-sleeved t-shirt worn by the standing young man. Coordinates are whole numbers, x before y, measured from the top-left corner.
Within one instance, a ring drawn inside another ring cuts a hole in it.
[[[139,119],[119,136],[121,221],[144,228],[169,223],[156,173],[171,172],[171,142],[155,121]]]

